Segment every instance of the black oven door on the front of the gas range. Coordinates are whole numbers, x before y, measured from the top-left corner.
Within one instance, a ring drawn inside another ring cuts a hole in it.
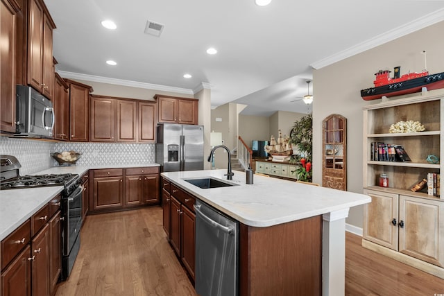
[[[82,226],[82,193],[83,186],[78,186],[76,191],[67,198],[63,198],[63,255],[68,256],[76,241]]]

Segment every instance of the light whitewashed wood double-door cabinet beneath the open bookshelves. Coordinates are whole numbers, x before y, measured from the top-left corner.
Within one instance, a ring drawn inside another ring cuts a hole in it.
[[[364,240],[444,267],[444,200],[375,190],[364,193],[372,198],[364,205]]]

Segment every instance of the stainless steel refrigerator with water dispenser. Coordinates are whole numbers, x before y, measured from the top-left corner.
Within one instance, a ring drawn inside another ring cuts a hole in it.
[[[163,172],[203,170],[203,126],[159,123],[155,155]]]

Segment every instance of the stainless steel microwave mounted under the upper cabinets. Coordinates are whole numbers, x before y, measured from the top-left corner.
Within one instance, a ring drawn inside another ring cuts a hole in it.
[[[54,109],[48,98],[32,87],[17,85],[15,137],[53,137]]]

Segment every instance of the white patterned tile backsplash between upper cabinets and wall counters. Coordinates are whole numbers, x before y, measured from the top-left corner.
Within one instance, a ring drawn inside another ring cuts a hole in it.
[[[0,137],[0,154],[17,157],[22,164],[20,175],[58,166],[50,153],[71,150],[82,153],[77,162],[79,166],[122,166],[155,162],[154,143],[50,142]]]

